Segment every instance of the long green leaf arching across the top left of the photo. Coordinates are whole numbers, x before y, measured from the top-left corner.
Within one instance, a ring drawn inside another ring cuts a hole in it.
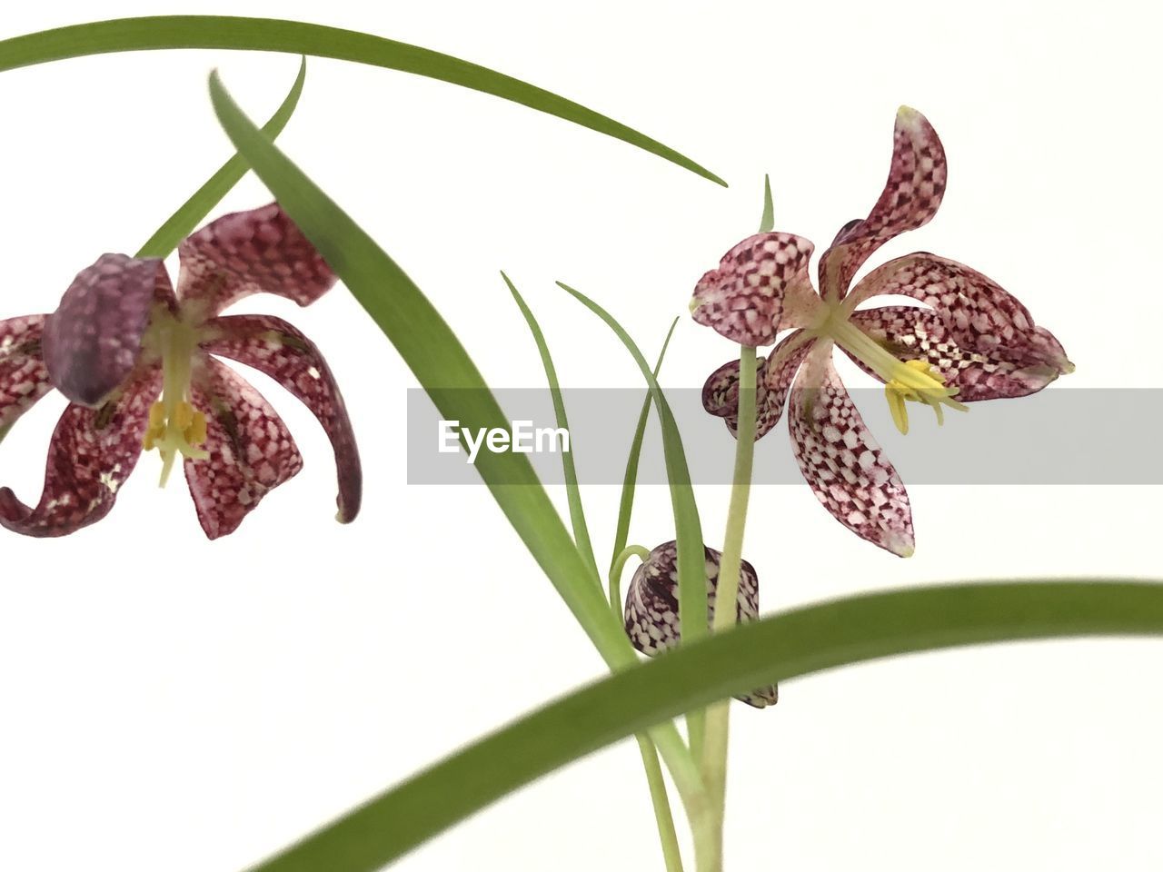
[[[0,71],[71,57],[154,49],[284,51],[427,76],[556,115],[636,145],[719,185],[727,185],[713,172],[670,146],[512,76],[419,45],[302,21],[222,15],[156,15],[71,24],[0,41]]]

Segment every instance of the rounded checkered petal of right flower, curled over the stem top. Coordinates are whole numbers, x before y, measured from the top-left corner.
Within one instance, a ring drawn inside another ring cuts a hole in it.
[[[749,236],[699,279],[691,314],[741,345],[770,345],[785,307],[811,306],[809,299],[798,298],[815,296],[807,272],[812,248],[791,234]]]

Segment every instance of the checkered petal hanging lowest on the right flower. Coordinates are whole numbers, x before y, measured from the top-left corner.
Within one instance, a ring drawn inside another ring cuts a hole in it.
[[[795,460],[823,507],[861,538],[912,555],[905,485],[832,365],[830,342],[816,345],[800,370],[789,415]]]

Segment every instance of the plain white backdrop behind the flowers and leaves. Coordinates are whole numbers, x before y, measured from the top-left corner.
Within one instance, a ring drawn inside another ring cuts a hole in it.
[[[893,113],[908,103],[944,141],[948,194],[873,264],[925,249],[1001,281],[1078,365],[1051,389],[1163,387],[1163,22],[1137,2],[954,8],[19,3],[2,35],[163,12],[369,30],[568,95],[732,183],[475,92],[311,60],[283,145],[504,387],[542,377],[499,269],[535,306],[565,384],[634,385],[606,328],[554,279],[607,305],[652,355],[698,277],[754,231],[764,172],[777,228],[821,250],[879,193]],[[151,52],[0,74],[0,316],[51,310],[78,270],[136,250],[229,153],[206,95],[212,67],[265,117],[297,64]],[[248,179],[223,209],[265,200]],[[49,542],[6,534],[0,869],[235,872],[601,672],[483,487],[406,486],[414,383],[356,302],[336,290],[308,310],[265,298],[244,308],[287,316],[328,355],[363,448],[363,515],[334,523],[326,438],[256,376],[307,467],[235,536],[206,542],[180,477],[156,487],[156,457],[97,527]],[[698,386],[730,353],[684,320],[664,381]],[[0,451],[0,483],[26,500],[60,407],[43,401]],[[880,434],[893,455],[941,438],[915,417],[907,439]],[[633,422],[611,426],[629,435]],[[1004,449],[1005,434],[983,446]],[[783,428],[758,450],[790,450]],[[1128,433],[1111,450],[1156,448]],[[605,555],[618,492],[586,498]],[[712,544],[726,498],[700,493]],[[758,488],[745,555],[764,609],[926,581],[1163,570],[1156,489],[914,487],[912,499],[916,556],[899,560],[844,531],[807,487]],[[648,488],[632,541],[671,537],[665,489]],[[842,670],[787,684],[775,709],[736,707],[729,866],[1157,869],[1161,666],[1157,642],[1009,645]],[[544,779],[400,867],[661,869],[636,748]]]

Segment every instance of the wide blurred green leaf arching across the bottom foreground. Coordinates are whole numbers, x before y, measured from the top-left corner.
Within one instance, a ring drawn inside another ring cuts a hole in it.
[[[684,644],[552,702],[376,796],[254,872],[371,872],[547,772],[752,687],[915,651],[1158,635],[1161,582],[943,584],[808,606]]]

